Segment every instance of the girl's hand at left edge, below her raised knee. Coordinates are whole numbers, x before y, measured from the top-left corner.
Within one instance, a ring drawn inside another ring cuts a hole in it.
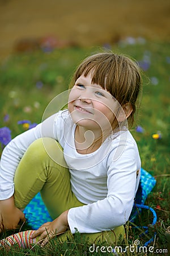
[[[14,197],[0,200],[0,233],[4,229],[18,228],[19,221],[25,221],[24,213],[15,207]]]

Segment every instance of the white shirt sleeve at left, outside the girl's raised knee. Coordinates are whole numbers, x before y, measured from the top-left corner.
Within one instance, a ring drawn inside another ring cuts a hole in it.
[[[10,198],[14,194],[14,175],[20,159],[29,145],[38,138],[57,139],[57,114],[45,119],[31,130],[18,135],[4,148],[0,162],[0,200]]]

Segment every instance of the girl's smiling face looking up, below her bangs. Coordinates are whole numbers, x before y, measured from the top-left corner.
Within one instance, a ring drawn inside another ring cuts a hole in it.
[[[86,130],[111,130],[117,102],[111,93],[92,83],[90,72],[75,81],[69,95],[68,108],[76,125]]]

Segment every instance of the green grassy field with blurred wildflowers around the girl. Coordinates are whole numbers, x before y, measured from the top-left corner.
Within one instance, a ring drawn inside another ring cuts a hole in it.
[[[131,133],[138,143],[142,167],[156,179],[156,185],[148,196],[146,204],[155,209],[158,221],[154,227],[150,228],[148,236],[139,240],[144,244],[156,232],[155,240],[151,245],[155,250],[167,249],[165,229],[170,225],[170,45],[162,42],[145,42],[142,39],[129,39],[105,47],[111,48],[114,52],[132,56],[143,69],[143,96]],[[14,138],[27,128],[18,124],[18,121],[26,119],[31,123],[41,122],[49,102],[68,88],[70,77],[80,61],[99,50],[99,47],[73,47],[54,49],[51,52],[40,50],[9,56],[1,63],[0,69],[0,128],[8,127],[11,130],[11,138]],[[136,130],[137,126],[142,127],[142,132]],[[153,134],[158,134],[159,138],[153,138]],[[147,213],[141,216],[142,224],[150,219]],[[25,228],[27,226],[23,227]],[[138,238],[139,233],[140,230],[134,231],[131,224],[127,224],[124,246],[131,245]],[[1,234],[1,237],[5,235]],[[10,252],[0,250],[0,255],[103,255],[101,251],[90,253],[88,248],[86,241],[77,235],[64,244],[52,243],[49,249],[13,248]],[[121,255],[144,254],[129,252]]]

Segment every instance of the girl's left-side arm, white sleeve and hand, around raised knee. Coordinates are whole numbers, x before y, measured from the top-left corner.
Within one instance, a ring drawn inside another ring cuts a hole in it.
[[[16,228],[24,214],[14,205],[14,175],[20,159],[29,145],[38,138],[54,138],[53,122],[56,114],[35,128],[18,135],[4,148],[0,162],[0,232]]]

